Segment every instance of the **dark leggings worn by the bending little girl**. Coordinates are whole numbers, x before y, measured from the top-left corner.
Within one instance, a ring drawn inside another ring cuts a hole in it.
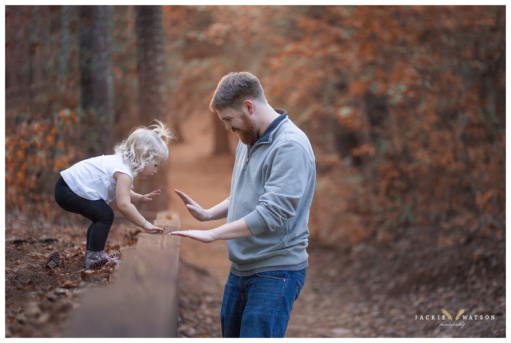
[[[113,223],[113,210],[103,200],[87,200],[76,195],[62,176],[55,183],[55,201],[67,212],[82,215],[92,221],[87,229],[87,250],[105,250]]]

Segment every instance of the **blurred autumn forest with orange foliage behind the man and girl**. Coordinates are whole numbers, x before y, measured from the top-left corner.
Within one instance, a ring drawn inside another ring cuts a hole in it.
[[[505,281],[505,6],[9,5],[5,15],[6,213],[60,216],[58,173],[154,118],[179,134],[200,113],[213,154],[232,154],[208,103],[223,75],[246,70],[312,143],[311,240],[391,252],[410,282]]]

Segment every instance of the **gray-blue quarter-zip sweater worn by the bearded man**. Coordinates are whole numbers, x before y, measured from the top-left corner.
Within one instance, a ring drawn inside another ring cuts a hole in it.
[[[227,222],[244,217],[253,233],[227,241],[231,272],[239,276],[308,266],[314,153],[287,112],[275,111],[281,115],[257,143],[236,149]]]

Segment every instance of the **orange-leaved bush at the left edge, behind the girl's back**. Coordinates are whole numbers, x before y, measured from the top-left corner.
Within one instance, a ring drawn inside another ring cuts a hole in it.
[[[6,206],[24,209],[27,203],[51,200],[58,172],[83,156],[83,146],[77,145],[81,131],[79,115],[69,109],[48,119],[34,115],[6,131]]]

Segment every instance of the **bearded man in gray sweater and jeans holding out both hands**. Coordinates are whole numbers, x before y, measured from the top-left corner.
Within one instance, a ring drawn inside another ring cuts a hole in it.
[[[197,220],[227,217],[227,223],[170,234],[205,243],[228,240],[231,268],[221,310],[224,337],[284,337],[308,266],[314,153],[286,111],[268,104],[251,73],[222,77],[210,109],[240,138],[230,196],[203,209],[186,194],[176,193]]]

